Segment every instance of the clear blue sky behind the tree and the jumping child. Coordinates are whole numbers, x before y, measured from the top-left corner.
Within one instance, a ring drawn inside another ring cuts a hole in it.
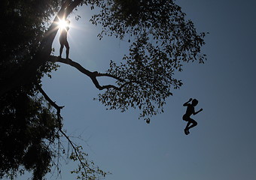
[[[90,79],[67,65],[51,80],[44,78],[44,90],[65,105],[68,134],[81,134],[86,142],[75,141],[101,169],[112,172],[107,180],[256,179],[256,1],[180,0],[178,5],[198,31],[210,32],[203,46],[208,61],[184,65],[176,74],[184,86],[151,124],[134,110],[105,110],[93,101],[99,90]],[[127,52],[127,43],[114,37],[99,41],[99,28],[90,26],[84,11],[76,12],[80,21],[71,18],[70,58],[90,71],[105,72],[109,60],[119,61]],[[182,104],[189,98],[197,98],[196,110],[203,112],[194,116],[198,126],[186,136]],[[75,179],[69,174],[73,167],[62,163],[62,179]]]

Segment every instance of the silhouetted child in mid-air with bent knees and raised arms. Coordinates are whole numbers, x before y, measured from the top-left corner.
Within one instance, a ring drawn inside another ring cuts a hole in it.
[[[189,102],[192,101],[191,104],[189,104]],[[187,121],[187,126],[184,128],[184,133],[187,135],[189,134],[189,130],[192,127],[195,127],[197,125],[197,121],[195,121],[193,118],[190,118],[190,115],[196,115],[197,113],[200,113],[201,111],[203,111],[203,109],[201,108],[199,111],[195,112],[195,108],[198,104],[197,99],[192,100],[192,98],[190,98],[189,101],[187,101],[186,103],[183,104],[184,107],[187,107],[186,113],[183,115],[183,120]],[[191,125],[190,125],[191,124]]]

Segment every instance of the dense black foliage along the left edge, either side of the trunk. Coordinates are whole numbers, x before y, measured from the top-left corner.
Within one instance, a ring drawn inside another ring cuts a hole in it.
[[[0,80],[11,80],[16,71],[34,60],[40,40],[49,20],[57,10],[57,1],[1,1]],[[32,16],[35,14],[36,16]],[[39,98],[35,84],[44,73],[50,72],[47,63],[38,68],[35,77],[23,86],[11,89],[0,98],[0,178],[15,175],[20,166],[33,170],[35,179],[49,172],[52,151],[46,139],[54,140],[56,115],[43,98]]]

